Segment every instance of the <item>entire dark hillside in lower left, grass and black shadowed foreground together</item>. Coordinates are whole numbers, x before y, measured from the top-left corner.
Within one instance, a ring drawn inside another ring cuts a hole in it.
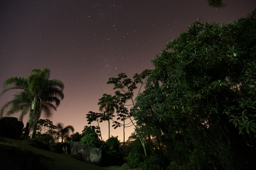
[[[27,142],[0,137],[0,170],[14,169],[17,159],[29,164],[31,170],[104,170],[77,160],[75,155],[53,153],[29,146]]]

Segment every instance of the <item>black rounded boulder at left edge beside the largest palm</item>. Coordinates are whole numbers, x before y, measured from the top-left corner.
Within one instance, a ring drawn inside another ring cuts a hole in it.
[[[23,127],[23,122],[16,117],[0,117],[0,134],[3,137],[20,139]]]

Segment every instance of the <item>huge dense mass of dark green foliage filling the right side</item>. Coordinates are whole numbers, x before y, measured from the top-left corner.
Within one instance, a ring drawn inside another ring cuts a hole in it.
[[[256,10],[220,26],[197,20],[152,60],[131,111],[145,137],[159,136],[169,169],[254,166],[255,28]]]

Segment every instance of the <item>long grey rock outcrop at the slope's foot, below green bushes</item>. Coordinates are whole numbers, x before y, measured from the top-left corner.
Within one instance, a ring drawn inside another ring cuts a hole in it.
[[[102,164],[102,150],[97,147],[88,147],[80,142],[69,142],[71,154],[82,156],[84,161],[100,166]]]

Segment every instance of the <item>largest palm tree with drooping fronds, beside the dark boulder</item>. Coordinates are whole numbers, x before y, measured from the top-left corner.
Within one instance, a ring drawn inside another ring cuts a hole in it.
[[[41,111],[44,111],[47,116],[50,116],[52,113],[51,109],[56,111],[56,107],[60,104],[59,98],[61,98],[61,100],[64,98],[63,82],[57,79],[49,80],[49,74],[49,68],[43,68],[41,70],[34,69],[26,78],[10,77],[4,82],[4,88],[8,85],[14,86],[5,89],[2,94],[10,89],[23,90],[17,92],[13,100],[7,102],[0,108],[0,116],[3,116],[3,112],[9,106],[11,106],[11,109],[7,112],[7,115],[21,111],[19,118],[21,121],[23,116],[29,112],[24,139],[29,135],[31,129],[33,129],[31,138],[33,137],[37,121],[41,116]],[[53,105],[52,102],[55,102],[56,106]]]

